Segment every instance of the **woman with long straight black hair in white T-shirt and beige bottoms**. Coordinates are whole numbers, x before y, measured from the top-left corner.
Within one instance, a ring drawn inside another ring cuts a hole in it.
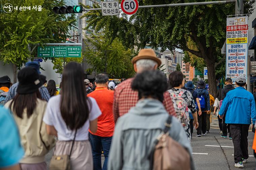
[[[92,170],[92,148],[89,128],[97,131],[101,111],[95,99],[87,97],[84,86],[84,71],[81,64],[69,62],[63,69],[61,94],[52,97],[46,108],[43,121],[49,134],[58,136],[54,157],[64,155],[72,170]],[[76,133],[75,133],[75,129]],[[60,161],[57,161],[60,162]],[[67,166],[68,167],[68,166]]]

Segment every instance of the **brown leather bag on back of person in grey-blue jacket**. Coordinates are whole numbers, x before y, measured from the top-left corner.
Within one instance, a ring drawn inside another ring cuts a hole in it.
[[[150,153],[151,170],[190,170],[191,158],[189,152],[169,135],[172,116],[165,122],[163,132],[154,141]]]

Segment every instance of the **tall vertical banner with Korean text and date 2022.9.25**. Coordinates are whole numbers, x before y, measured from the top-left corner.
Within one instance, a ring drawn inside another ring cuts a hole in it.
[[[247,78],[248,16],[227,18],[226,78]]]

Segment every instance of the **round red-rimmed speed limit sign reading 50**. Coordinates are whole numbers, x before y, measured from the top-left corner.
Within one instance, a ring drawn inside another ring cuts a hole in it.
[[[137,0],[122,0],[121,8],[124,13],[132,15],[137,12],[139,4]]]

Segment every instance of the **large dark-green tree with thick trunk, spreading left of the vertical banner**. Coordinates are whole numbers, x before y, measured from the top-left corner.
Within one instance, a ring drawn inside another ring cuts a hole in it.
[[[198,2],[197,0],[182,0],[179,3]],[[253,1],[244,5],[245,13],[253,11]],[[139,5],[159,5],[176,3],[173,0],[143,0]],[[97,7],[97,6],[95,6]],[[234,3],[218,5],[194,5],[162,8],[139,8],[130,16],[102,16],[101,11],[91,11],[85,14],[90,19],[89,26],[96,31],[105,28],[109,40],[120,38],[126,48],[160,47],[174,50],[180,48],[202,58],[208,68],[208,78],[211,94],[215,95],[216,73],[215,63],[218,62],[217,48],[221,48],[226,39],[226,17],[234,14]],[[188,47],[191,39],[197,50]]]

